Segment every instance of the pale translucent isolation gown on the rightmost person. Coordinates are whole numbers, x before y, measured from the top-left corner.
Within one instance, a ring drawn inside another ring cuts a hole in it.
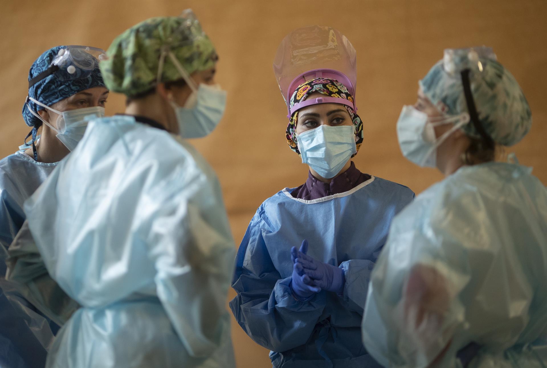
[[[363,318],[389,367],[547,366],[547,190],[531,169],[464,166],[393,220]],[[434,363],[433,363],[434,362]]]

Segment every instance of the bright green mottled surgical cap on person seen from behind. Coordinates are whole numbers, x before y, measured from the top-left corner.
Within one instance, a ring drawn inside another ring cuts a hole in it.
[[[181,79],[166,52],[170,51],[191,74],[207,70],[217,61],[217,53],[202,31],[194,13],[147,19],[120,34],[108,48],[108,59],[100,67],[108,89],[126,96],[146,92],[156,85],[160,56],[164,65],[160,82]]]

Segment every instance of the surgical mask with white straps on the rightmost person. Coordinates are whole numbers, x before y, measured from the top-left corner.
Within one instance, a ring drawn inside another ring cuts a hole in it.
[[[443,116],[429,120],[426,113],[416,110],[414,106],[403,106],[397,121],[397,138],[403,156],[422,167],[437,165],[437,148],[456,130],[469,122],[469,114]],[[437,139],[435,126],[454,124]]]

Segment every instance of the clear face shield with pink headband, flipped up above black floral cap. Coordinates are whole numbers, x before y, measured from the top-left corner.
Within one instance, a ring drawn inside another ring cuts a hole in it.
[[[322,97],[321,101],[302,101],[292,108],[288,101],[294,91],[308,80],[326,77],[338,80],[356,99],[357,53],[351,42],[331,27],[307,26],[287,34],[277,48],[274,59],[274,73],[287,103],[288,116],[305,106],[315,103],[344,103],[342,99],[330,101],[335,97]],[[347,103],[357,110],[355,103]]]

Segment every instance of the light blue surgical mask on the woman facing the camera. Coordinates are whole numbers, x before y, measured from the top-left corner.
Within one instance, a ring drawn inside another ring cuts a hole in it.
[[[325,179],[336,176],[357,153],[353,125],[321,125],[296,136],[302,163]]]

